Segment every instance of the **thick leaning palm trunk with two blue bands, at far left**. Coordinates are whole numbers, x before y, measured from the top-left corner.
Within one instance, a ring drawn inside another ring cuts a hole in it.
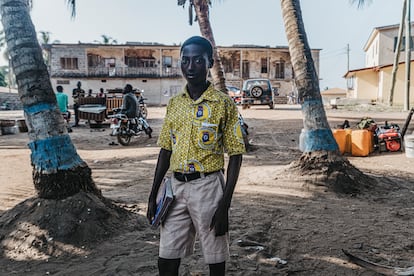
[[[0,12],[29,130],[35,189],[39,197],[51,199],[81,190],[100,195],[66,131],[27,2],[4,0]]]

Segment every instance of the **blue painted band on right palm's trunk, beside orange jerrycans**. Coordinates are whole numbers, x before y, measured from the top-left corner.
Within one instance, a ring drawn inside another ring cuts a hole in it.
[[[312,152],[319,150],[335,151],[338,150],[338,144],[332,135],[330,129],[313,129],[302,131],[303,139],[302,151]]]

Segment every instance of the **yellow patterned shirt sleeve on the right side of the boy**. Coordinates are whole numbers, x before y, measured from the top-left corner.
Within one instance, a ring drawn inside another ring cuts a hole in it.
[[[224,147],[229,156],[243,154],[246,152],[246,147],[243,141],[243,134],[239,121],[239,112],[236,105],[231,101],[226,101],[227,112],[226,122],[224,127]]]

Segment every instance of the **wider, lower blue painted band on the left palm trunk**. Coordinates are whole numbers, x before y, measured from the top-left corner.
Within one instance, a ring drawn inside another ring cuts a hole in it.
[[[84,164],[67,134],[33,141],[29,143],[29,148],[32,164],[38,171],[55,173]]]

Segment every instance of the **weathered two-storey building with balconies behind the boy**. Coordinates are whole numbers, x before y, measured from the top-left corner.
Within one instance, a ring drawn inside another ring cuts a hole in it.
[[[295,90],[292,85],[293,69],[287,47],[236,45],[219,46],[218,49],[227,85],[241,88],[246,79],[267,78],[281,96],[286,96]],[[122,89],[129,83],[134,88],[144,90],[149,105],[164,105],[185,85],[185,80],[179,73],[179,50],[178,45],[53,44],[49,48],[52,85],[64,87],[70,105],[73,102],[72,90],[79,80],[85,92],[92,89],[93,94],[96,94],[100,88],[105,91]],[[312,50],[312,55],[316,70],[319,72],[319,50]],[[94,62],[90,68],[88,68],[88,56]],[[61,57],[77,58],[79,68],[63,70],[60,64]],[[102,61],[107,59],[115,59],[113,64],[115,67],[110,69],[116,74],[111,75],[110,72],[105,71],[107,66],[102,64]],[[130,67],[128,67],[129,62]],[[101,74],[99,70],[104,73]],[[283,73],[277,74],[277,70],[283,70]],[[95,72],[99,74],[94,74]]]

